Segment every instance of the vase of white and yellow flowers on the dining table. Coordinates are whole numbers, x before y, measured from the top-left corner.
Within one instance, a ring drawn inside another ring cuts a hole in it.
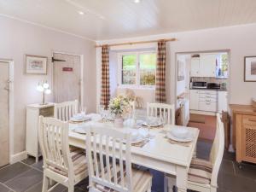
[[[124,116],[131,112],[131,104],[125,96],[117,96],[110,100],[109,110],[114,115],[114,125],[123,127]]]

